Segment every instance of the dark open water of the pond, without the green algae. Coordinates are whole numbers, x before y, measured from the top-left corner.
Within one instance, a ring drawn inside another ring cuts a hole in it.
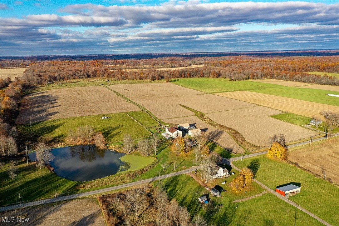
[[[129,169],[120,160],[125,153],[100,150],[94,145],[53,148],[52,153],[54,172],[71,181],[91,181]],[[29,159],[35,160],[35,152],[29,153]]]

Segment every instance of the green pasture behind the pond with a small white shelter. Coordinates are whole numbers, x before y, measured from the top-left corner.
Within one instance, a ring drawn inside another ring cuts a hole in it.
[[[134,115],[138,114],[142,117],[145,113],[141,111],[134,112]],[[101,116],[109,116],[111,118],[103,120]],[[150,121],[150,119],[148,120]],[[62,142],[67,137],[70,129],[76,132],[78,127],[85,125],[93,126],[95,131],[102,132],[109,144],[119,142],[123,139],[124,134],[127,133],[131,134],[133,138],[151,135],[150,132],[125,113],[61,118],[32,123],[32,133],[30,132],[29,124],[19,125],[17,128],[20,136],[27,137],[26,140],[34,140],[38,137],[52,137],[56,141]]]

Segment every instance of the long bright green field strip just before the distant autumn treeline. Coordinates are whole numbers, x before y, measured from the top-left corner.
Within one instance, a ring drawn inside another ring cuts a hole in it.
[[[306,100],[327,105],[339,106],[338,97],[327,96],[327,90],[284,87],[276,84],[255,82],[253,80],[229,81],[223,78],[183,78],[175,79],[174,84],[206,93],[221,93],[246,90],[257,93],[271,94]],[[339,92],[331,91],[339,95]]]

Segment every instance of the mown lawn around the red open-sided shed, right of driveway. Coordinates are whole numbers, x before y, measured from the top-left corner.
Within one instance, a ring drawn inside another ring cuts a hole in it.
[[[287,163],[268,158],[257,157],[260,161],[260,169],[257,180],[271,189],[290,182],[301,183],[301,193],[290,197],[305,209],[316,214],[330,224],[339,224],[339,188],[328,182],[314,177]],[[245,159],[234,163],[235,166],[246,167],[254,158]]]

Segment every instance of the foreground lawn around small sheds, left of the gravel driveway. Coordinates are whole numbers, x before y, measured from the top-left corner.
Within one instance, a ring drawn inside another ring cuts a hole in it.
[[[230,180],[231,179],[227,179]],[[155,185],[158,183],[155,182]],[[213,225],[293,225],[295,207],[279,200],[272,194],[266,193],[254,199],[232,203],[263,191],[257,184],[252,190],[238,194],[222,192],[221,197],[210,197],[215,205],[222,205],[220,212],[213,214],[206,204],[200,204],[198,197],[207,194],[198,182],[188,175],[179,175],[162,181],[168,197],[174,198],[179,205],[187,207],[191,215],[201,214],[209,224]],[[228,187],[228,186],[227,186]],[[212,214],[210,215],[210,212]],[[296,225],[322,225],[304,212],[297,210]]]

